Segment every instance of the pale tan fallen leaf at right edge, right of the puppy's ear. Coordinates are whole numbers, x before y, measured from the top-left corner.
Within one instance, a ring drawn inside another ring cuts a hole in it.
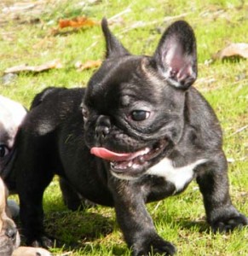
[[[224,59],[234,59],[234,58],[248,58],[248,44],[239,43],[239,44],[229,44],[222,50],[219,50],[213,59],[215,60],[224,60]]]

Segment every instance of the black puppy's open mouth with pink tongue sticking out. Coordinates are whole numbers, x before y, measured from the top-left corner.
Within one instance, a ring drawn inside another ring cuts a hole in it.
[[[165,139],[159,140],[154,143],[152,147],[142,148],[132,153],[116,153],[108,150],[107,148],[91,148],[90,153],[110,161],[112,172],[125,172],[130,174],[137,174],[137,172],[144,171],[147,166],[150,166],[152,160],[155,160],[159,155],[164,152],[168,141]]]

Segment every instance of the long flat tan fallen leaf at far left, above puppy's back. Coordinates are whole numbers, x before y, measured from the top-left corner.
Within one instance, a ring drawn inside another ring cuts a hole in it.
[[[40,66],[28,66],[27,64],[22,64],[19,66],[9,67],[4,73],[21,73],[21,72],[43,72],[45,70],[49,70],[51,68],[61,68],[62,64],[60,60],[54,60],[46,62]]]

